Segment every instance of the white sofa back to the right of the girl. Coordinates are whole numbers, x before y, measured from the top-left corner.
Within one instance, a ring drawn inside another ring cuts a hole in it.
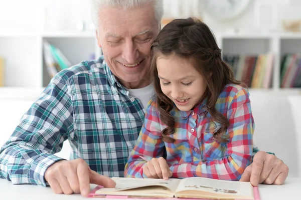
[[[250,93],[255,121],[253,141],[260,150],[274,152],[282,159],[289,167],[288,176],[301,177],[301,165],[298,163],[301,161],[301,148],[297,145],[301,142],[301,137],[298,137],[301,129],[296,131],[296,117],[298,115],[299,120],[301,117],[301,101],[294,102],[292,106],[289,98],[297,96]]]

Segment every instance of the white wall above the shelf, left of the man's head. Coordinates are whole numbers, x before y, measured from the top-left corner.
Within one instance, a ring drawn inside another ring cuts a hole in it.
[[[0,33],[77,31],[92,23],[89,0],[0,0]],[[42,22],[42,23],[41,23]]]

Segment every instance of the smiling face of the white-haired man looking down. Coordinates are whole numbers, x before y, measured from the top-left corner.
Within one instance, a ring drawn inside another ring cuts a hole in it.
[[[146,86],[150,46],[159,34],[152,9],[145,5],[127,10],[106,7],[100,11],[98,46],[112,73],[127,88]]]

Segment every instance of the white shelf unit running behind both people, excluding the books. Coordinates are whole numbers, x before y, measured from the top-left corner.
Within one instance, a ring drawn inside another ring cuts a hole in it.
[[[280,88],[280,62],[286,53],[301,53],[301,34],[215,34],[222,54],[275,55],[272,86],[252,91],[299,94],[301,89]],[[6,87],[45,87],[50,81],[43,58],[43,42],[48,41],[70,60],[72,65],[101,55],[95,33],[46,32],[0,34],[0,56],[6,60]]]

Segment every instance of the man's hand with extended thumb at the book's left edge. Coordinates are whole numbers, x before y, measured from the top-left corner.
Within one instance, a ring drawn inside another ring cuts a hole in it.
[[[114,187],[116,184],[111,178],[91,170],[81,158],[52,164],[45,172],[45,180],[55,193],[81,193],[83,196],[88,196],[90,183],[105,187]]]

